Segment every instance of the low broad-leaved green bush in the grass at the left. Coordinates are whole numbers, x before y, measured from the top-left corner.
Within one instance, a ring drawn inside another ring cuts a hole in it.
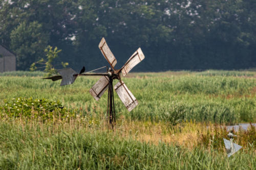
[[[2,107],[2,116],[3,114],[8,117],[40,117],[43,121],[52,119],[54,115],[61,119],[74,115],[73,112],[62,107],[59,101],[32,98],[13,98],[10,102],[6,101]]]

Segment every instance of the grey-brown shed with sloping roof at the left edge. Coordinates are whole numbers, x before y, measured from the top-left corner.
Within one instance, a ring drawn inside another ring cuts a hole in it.
[[[0,44],[0,72],[16,71],[16,57],[5,46]]]

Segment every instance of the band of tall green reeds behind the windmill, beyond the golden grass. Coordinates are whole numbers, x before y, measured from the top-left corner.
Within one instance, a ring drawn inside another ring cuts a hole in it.
[[[96,102],[89,93],[97,77],[79,77],[74,84],[59,86],[60,81],[40,77],[2,77],[0,99],[25,97],[60,100],[65,107],[79,108],[88,114],[106,112],[107,94]],[[127,119],[168,121],[163,119],[174,108],[184,108],[184,119],[197,122],[238,123],[256,121],[256,79],[237,77],[198,77],[193,75],[123,78],[139,101],[128,112],[115,95],[117,116]],[[117,81],[114,81],[114,84]],[[107,93],[107,92],[105,92]],[[172,112],[173,113],[173,112]]]

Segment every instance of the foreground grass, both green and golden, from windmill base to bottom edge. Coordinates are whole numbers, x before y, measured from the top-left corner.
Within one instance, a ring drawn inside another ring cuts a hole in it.
[[[208,127],[208,128],[207,128]],[[224,129],[225,130],[225,129]],[[248,143],[226,157],[223,131],[215,125],[186,122],[173,128],[161,123],[88,119],[42,123],[9,119],[0,123],[1,169],[254,169],[255,145]],[[254,133],[255,129],[243,133]],[[248,135],[247,135],[248,136]],[[251,135],[252,136],[252,135]],[[222,140],[222,139],[221,139]],[[241,144],[241,138],[236,140]]]

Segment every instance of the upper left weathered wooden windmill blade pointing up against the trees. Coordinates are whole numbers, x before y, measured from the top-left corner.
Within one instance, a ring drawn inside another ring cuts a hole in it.
[[[117,61],[116,61],[115,56],[111,52],[108,44],[106,44],[104,37],[101,39],[101,41],[99,43],[99,49],[100,49],[101,53],[103,54],[103,56],[105,57],[106,61],[108,61],[110,63],[110,66],[112,67],[112,69],[114,69]]]

